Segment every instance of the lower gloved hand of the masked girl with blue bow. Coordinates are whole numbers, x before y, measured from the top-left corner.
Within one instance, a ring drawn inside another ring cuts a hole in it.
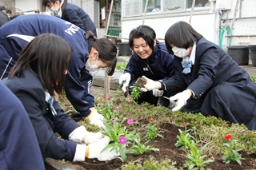
[[[192,92],[190,89],[186,89],[183,92],[177,93],[173,97],[170,97],[170,101],[176,101],[176,105],[171,110],[175,112],[181,109],[183,105],[186,105],[186,101],[191,97],[191,95]]]

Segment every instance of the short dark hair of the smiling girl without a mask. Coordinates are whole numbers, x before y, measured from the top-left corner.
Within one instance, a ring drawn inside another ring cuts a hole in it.
[[[142,25],[130,31],[129,45],[131,49],[134,49],[134,38],[143,38],[150,49],[154,49],[156,34],[150,26]]]

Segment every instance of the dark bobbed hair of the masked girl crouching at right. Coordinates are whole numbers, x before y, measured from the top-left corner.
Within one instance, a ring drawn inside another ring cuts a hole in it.
[[[186,22],[176,22],[166,32],[165,42],[168,53],[173,53],[170,45],[178,48],[188,49],[202,38],[196,30]]]

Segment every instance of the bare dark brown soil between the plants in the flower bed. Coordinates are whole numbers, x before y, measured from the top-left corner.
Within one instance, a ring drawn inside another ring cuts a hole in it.
[[[94,87],[94,93],[103,93],[103,88],[100,87]],[[138,120],[138,125],[144,125],[148,123],[147,120]],[[175,167],[178,169],[186,169],[182,168],[182,164],[184,164],[186,160],[186,152],[183,151],[182,148],[175,148],[174,144],[177,142],[177,137],[179,135],[178,127],[175,125],[171,125],[170,123],[166,123],[163,125],[160,125],[160,128],[162,131],[162,136],[157,137],[153,141],[150,141],[146,145],[153,145],[154,148],[158,148],[159,152],[147,152],[142,155],[134,156],[131,154],[127,154],[127,160],[126,162],[122,162],[120,159],[115,159],[111,161],[101,162],[97,159],[86,159],[85,162],[73,162],[71,164],[76,164],[82,167],[82,169],[86,170],[112,170],[112,169],[122,169],[122,166],[125,164],[133,162],[134,164],[143,164],[144,161],[150,160],[151,157],[154,157],[154,160],[158,160],[158,162],[161,162],[162,160],[166,160],[166,158],[170,159],[171,161],[175,161],[176,165]],[[145,134],[141,132],[141,134]],[[244,160],[242,161],[242,166],[237,164],[236,162],[231,162],[230,164],[223,164],[220,160],[221,156],[215,156],[214,162],[206,164],[204,167],[205,169],[211,169],[211,170],[252,170],[256,169],[255,159],[256,159],[256,153],[254,154],[247,154],[246,152],[240,152],[242,154],[242,158]]]

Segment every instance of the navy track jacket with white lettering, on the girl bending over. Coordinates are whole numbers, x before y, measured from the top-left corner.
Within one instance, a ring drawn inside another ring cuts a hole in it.
[[[56,34],[68,42],[73,52],[66,75],[65,91],[74,109],[82,117],[90,114],[94,107],[94,96],[90,93],[92,75],[85,69],[89,56],[89,42],[84,37],[85,31],[60,18],[30,14],[14,18],[0,28],[0,80],[8,73],[19,57],[21,49],[34,37],[44,33]]]

